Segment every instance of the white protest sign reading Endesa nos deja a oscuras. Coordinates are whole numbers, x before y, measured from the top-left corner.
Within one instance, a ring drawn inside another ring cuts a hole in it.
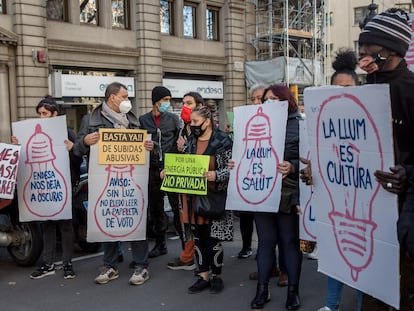
[[[12,123],[21,144],[17,194],[20,221],[72,218],[66,117]]]

